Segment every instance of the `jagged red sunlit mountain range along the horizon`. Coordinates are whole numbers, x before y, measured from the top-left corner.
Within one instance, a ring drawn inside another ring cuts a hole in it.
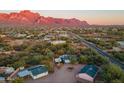
[[[20,12],[0,13],[0,25],[60,25],[60,26],[89,26],[86,21],[81,21],[76,18],[64,19],[44,17],[39,13],[34,13],[29,10],[23,10]]]

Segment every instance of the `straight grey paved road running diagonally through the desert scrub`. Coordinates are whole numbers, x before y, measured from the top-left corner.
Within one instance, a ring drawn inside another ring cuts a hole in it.
[[[69,34],[74,36],[74,38],[79,39],[81,41],[81,43],[85,44],[89,48],[92,48],[92,49],[96,50],[102,56],[107,57],[111,63],[116,64],[116,65],[120,66],[122,69],[124,69],[124,64],[121,61],[119,61],[118,59],[110,56],[107,52],[105,52],[102,49],[98,48],[95,44],[86,41],[85,39],[83,39],[82,37],[80,37],[79,35],[77,35],[75,33],[69,32]]]

